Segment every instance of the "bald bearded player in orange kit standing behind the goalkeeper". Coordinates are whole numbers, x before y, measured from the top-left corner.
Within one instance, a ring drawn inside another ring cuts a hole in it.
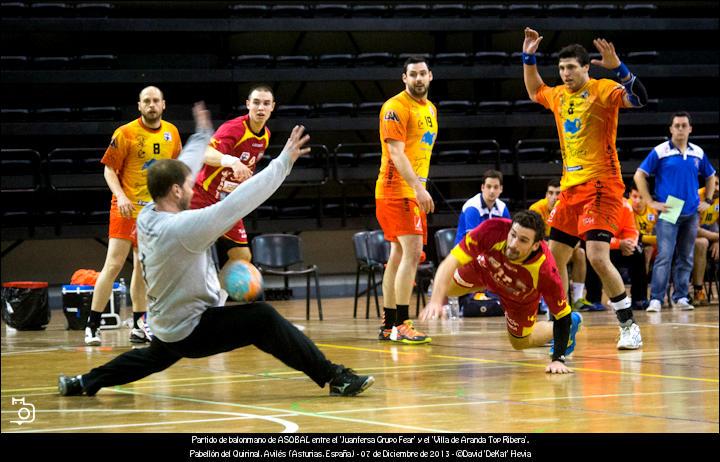
[[[137,253],[135,220],[151,200],[147,189],[147,171],[160,159],[174,159],[181,149],[177,128],[162,120],[165,99],[157,87],[146,87],[138,101],[140,117],[115,130],[105,151],[105,181],[113,193],[110,204],[110,233],[105,264],[93,292],[92,309],[85,328],[85,344],[102,343],[100,321],[115,278],[120,274],[130,249],[133,249],[133,273],[130,296],[133,302],[133,329],[130,341],[145,343],[145,335],[138,320],[147,311],[146,288]]]

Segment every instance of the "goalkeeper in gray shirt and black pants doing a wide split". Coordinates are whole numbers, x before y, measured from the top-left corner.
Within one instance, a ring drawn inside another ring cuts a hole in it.
[[[138,216],[138,247],[148,287],[148,324],[154,337],[147,348],[127,351],[77,376],[61,375],[63,396],[95,395],[160,372],[181,358],[202,358],[255,345],[307,374],[331,395],[354,396],[370,387],[372,376],[358,376],[330,362],[317,346],[267,303],[224,307],[212,244],[269,198],[295,160],[310,151],[310,137],[296,126],[284,149],[262,172],[243,182],[223,201],[189,210],[193,184],[213,134],[202,103],[193,108],[196,133],[178,160],[161,160],[148,171],[153,203]]]

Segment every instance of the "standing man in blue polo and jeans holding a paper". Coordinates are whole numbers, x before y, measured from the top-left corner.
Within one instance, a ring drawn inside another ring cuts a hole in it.
[[[662,308],[674,254],[676,259],[672,270],[674,285],[672,299],[680,309],[695,309],[689,301],[689,282],[698,227],[697,214],[704,213],[710,206],[705,200],[700,201],[698,175],[705,178],[706,196],[712,198],[715,189],[715,169],[702,148],[689,142],[690,133],[692,133],[690,114],[675,113],[670,124],[670,140],[655,146],[635,172],[638,191],[650,207],[660,213],[655,225],[658,255],[653,267],[650,305],[647,311],[657,312]],[[654,199],[648,188],[647,177],[650,175],[655,175]],[[662,219],[662,214],[669,210],[666,204],[668,196],[684,202],[675,223]]]

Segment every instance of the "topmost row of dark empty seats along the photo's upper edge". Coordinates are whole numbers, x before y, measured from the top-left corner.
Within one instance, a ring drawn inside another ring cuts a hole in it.
[[[187,15],[197,12],[196,5],[179,2],[170,4],[167,14]],[[616,17],[652,16],[658,6],[652,3],[413,3],[413,4],[229,4],[215,2],[206,8],[204,15],[220,16],[230,14],[237,18],[325,18],[325,17],[488,17],[488,16],[529,16],[529,17]],[[123,16],[131,10],[142,11],[138,5],[123,5],[120,2],[83,2],[78,4],[62,2],[3,2],[4,17],[114,17]],[[150,7],[152,8],[152,6]]]

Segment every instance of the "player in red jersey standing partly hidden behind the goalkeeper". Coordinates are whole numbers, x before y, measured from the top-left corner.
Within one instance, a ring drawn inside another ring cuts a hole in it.
[[[245,104],[248,113],[228,120],[217,129],[205,151],[205,165],[195,180],[191,207],[199,209],[221,201],[255,173],[270,144],[265,126],[275,109],[268,85],[254,85]],[[215,243],[220,267],[228,260],[250,261],[247,233],[242,220]]]

